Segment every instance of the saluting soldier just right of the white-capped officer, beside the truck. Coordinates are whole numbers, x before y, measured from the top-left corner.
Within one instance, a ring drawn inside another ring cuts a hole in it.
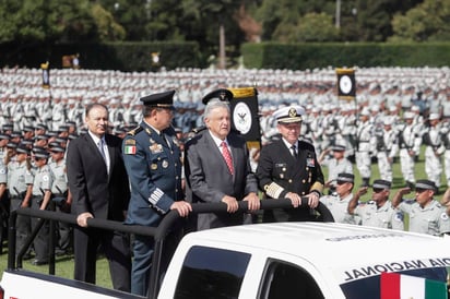
[[[364,226],[403,230],[403,214],[394,210],[389,201],[391,182],[375,180],[371,200],[367,203],[358,203],[360,196],[367,193],[367,187],[363,187],[355,193],[348,203],[348,214],[358,215]]]

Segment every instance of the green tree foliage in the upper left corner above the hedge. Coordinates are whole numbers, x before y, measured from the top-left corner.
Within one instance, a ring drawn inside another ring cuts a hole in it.
[[[88,0],[3,0],[0,16],[2,43],[115,40],[123,35],[110,15]]]

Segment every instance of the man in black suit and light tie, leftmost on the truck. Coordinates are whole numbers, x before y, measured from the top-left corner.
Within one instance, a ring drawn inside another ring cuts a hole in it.
[[[102,244],[115,289],[130,290],[131,252],[128,236],[87,227],[97,217],[123,222],[130,188],[121,157],[121,139],[107,133],[108,109],[100,104],[86,107],[87,133],[70,142],[67,153],[74,229],[74,278],[95,284],[98,246]]]

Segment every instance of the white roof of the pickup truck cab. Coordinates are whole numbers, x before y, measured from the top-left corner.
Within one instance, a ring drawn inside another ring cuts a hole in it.
[[[336,223],[276,223],[225,227],[189,235],[187,237],[197,240],[196,243],[211,240],[223,246],[239,244],[298,256],[316,266],[340,273],[338,279],[341,282],[348,280],[348,274],[366,266],[391,265],[395,267],[393,270],[433,267],[436,263],[450,266],[450,238],[392,229]],[[387,270],[392,271],[389,266]]]

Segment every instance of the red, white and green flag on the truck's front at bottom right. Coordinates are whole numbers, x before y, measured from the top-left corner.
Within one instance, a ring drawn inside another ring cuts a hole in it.
[[[380,285],[381,299],[448,299],[443,282],[384,272]]]

